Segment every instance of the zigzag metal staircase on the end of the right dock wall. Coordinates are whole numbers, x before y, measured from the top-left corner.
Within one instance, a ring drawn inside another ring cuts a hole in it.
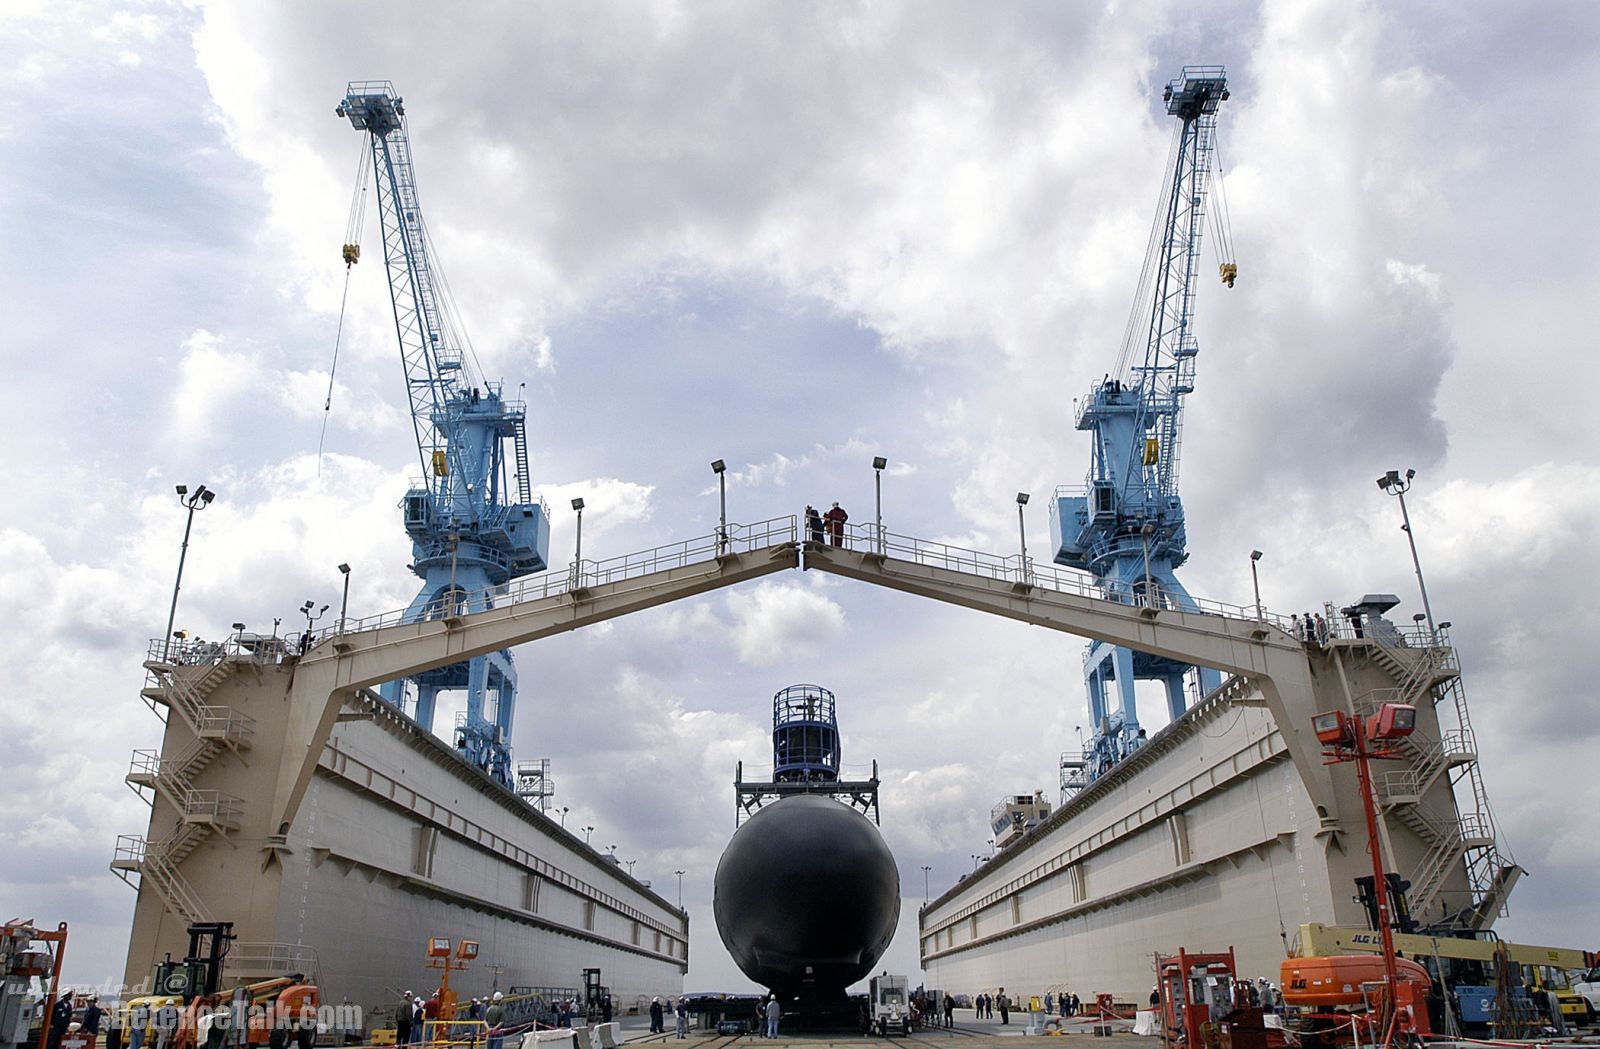
[[[1475,932],[1486,929],[1504,913],[1506,899],[1522,876],[1522,868],[1499,849],[1456,652],[1443,635],[1438,641],[1427,644],[1424,640],[1414,648],[1386,641],[1368,644],[1371,660],[1397,684],[1392,689],[1373,689],[1357,704],[1357,712],[1373,713],[1386,702],[1437,710],[1450,699],[1456,728],[1443,729],[1438,739],[1411,736],[1400,740],[1395,750],[1405,755],[1406,768],[1384,772],[1378,793],[1384,814],[1397,819],[1429,846],[1408,875],[1411,913],[1422,924]],[[1429,811],[1422,803],[1440,777],[1448,777],[1454,801],[1454,811],[1448,817]],[[1462,864],[1470,902],[1466,907],[1442,905],[1445,883]],[[1437,918],[1440,913],[1442,919]]]

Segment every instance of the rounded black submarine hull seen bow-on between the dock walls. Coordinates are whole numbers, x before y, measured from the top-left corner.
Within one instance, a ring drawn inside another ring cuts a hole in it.
[[[744,975],[786,998],[837,998],[872,972],[899,921],[899,868],[842,801],[763,806],[717,864],[717,934]]]

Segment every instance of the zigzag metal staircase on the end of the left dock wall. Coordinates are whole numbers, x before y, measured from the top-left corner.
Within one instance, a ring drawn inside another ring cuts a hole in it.
[[[157,654],[152,644],[144,662],[149,680],[141,696],[152,707],[165,705],[168,712],[189,726],[194,742],[174,758],[163,758],[155,750],[134,750],[125,777],[130,788],[155,804],[155,798],[178,811],[178,824],[165,838],[147,841],[139,835],[120,835],[112,857],[112,872],[138,887],[138,878],[147,879],[174,915],[187,924],[208,921],[198,894],[184,879],[179,865],[211,835],[224,838],[238,830],[245,801],[222,790],[195,787],[195,777],[205,772],[224,750],[240,753],[248,750],[254,734],[254,720],[230,707],[210,705],[205,700],[234,673],[238,654],[229,659],[226,646],[186,646],[174,654],[162,646]],[[168,718],[168,724],[170,724]],[[144,792],[150,793],[146,795]]]

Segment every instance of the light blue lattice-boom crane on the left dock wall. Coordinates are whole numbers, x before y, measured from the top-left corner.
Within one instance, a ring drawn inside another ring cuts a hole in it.
[[[371,149],[389,299],[422,467],[400,502],[411,536],[410,568],[422,579],[405,619],[482,611],[493,606],[496,587],[547,568],[549,515],[530,489],[526,408],[506,400],[501,384],[469,374],[469,347],[432,261],[405,102],[394,85],[350,83],[338,114],[366,133]],[[360,245],[346,245],[344,259],[354,265]],[[517,670],[509,651],[390,681],[381,692],[405,708],[408,684],[416,689],[414,716],[429,729],[438,692],[466,689],[454,745],[467,761],[512,785]]]

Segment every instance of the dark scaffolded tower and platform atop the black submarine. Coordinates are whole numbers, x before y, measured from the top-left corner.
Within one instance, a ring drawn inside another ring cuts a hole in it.
[[[826,795],[862,816],[878,819],[878,763],[872,777],[840,779],[838,716],[834,694],[821,684],[790,684],[773,696],[773,777],[746,780],[744,763],[734,774],[734,825],[763,804],[794,795]]]

